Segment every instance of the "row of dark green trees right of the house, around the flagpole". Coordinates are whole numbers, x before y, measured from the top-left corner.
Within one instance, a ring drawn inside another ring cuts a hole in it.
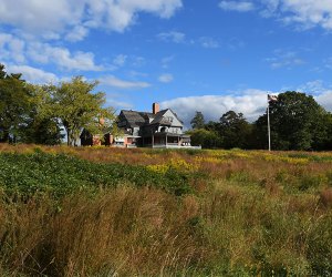
[[[288,91],[269,101],[271,148],[332,150],[332,114],[311,95]],[[228,111],[219,121],[205,122],[196,112],[191,120],[191,144],[205,148],[267,150],[268,111],[250,123],[242,113]]]

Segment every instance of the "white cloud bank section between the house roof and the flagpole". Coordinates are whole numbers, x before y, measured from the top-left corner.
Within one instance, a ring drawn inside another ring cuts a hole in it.
[[[218,121],[230,110],[241,112],[249,120],[257,120],[267,107],[267,92],[261,90],[246,90],[242,95],[203,95],[178,98],[160,103],[164,107],[173,109],[189,126],[196,111],[203,112],[207,121]]]

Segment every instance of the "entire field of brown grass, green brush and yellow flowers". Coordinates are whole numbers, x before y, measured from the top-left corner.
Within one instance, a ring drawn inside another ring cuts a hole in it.
[[[0,145],[0,276],[332,276],[332,153]]]

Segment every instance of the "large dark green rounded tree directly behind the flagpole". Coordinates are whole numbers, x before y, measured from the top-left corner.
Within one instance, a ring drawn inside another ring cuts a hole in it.
[[[312,96],[288,91],[270,102],[271,144],[274,150],[313,150],[326,143],[328,113]],[[267,113],[256,122],[260,145],[267,147]]]

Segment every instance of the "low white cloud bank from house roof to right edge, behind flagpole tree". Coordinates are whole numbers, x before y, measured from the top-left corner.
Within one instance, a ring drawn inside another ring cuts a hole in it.
[[[324,88],[322,81],[308,82],[295,89],[288,89],[305,92],[314,95],[315,101],[326,111],[332,112],[332,88]],[[238,92],[228,95],[203,95],[172,99],[160,103],[163,109],[170,107],[189,127],[189,123],[196,111],[203,112],[206,121],[219,121],[224,113],[232,110],[243,113],[245,117],[253,122],[264,114],[267,109],[267,91],[248,89],[239,94]],[[269,92],[278,94],[279,92]]]

